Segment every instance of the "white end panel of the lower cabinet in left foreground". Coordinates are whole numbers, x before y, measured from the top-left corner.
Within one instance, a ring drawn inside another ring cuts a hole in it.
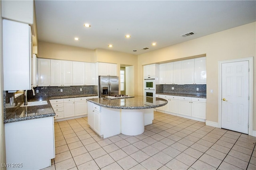
[[[39,170],[55,157],[53,117],[5,123],[6,169]],[[2,155],[1,155],[2,156]]]

